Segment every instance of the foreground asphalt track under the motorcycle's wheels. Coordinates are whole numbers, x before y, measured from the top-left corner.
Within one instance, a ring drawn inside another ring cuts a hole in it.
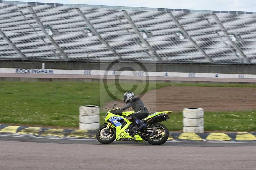
[[[256,142],[167,141],[153,146],[0,135],[0,151],[1,170],[256,168]]]

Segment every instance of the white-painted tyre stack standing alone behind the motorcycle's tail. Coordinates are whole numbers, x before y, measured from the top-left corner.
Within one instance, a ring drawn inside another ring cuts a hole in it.
[[[204,132],[204,109],[202,108],[183,109],[183,132],[192,132],[192,133]]]

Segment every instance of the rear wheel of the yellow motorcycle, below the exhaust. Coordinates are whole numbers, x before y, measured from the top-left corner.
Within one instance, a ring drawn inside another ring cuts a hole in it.
[[[153,145],[164,144],[169,137],[168,128],[160,123],[153,124],[151,127],[158,128],[157,131],[159,131],[159,134],[154,135],[154,136],[148,136],[147,137],[148,143],[153,144]]]

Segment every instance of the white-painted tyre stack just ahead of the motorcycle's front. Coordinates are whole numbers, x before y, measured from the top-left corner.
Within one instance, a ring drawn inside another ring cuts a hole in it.
[[[79,129],[97,130],[100,127],[99,106],[89,105],[79,107]]]

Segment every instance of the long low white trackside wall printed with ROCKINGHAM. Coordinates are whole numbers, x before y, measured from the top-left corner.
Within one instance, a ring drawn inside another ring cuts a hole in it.
[[[0,68],[0,73],[19,74],[75,74],[75,75],[116,75],[117,71],[104,70],[57,70],[57,69],[6,69]],[[199,78],[255,78],[254,74],[222,74],[222,73],[177,73],[177,72],[148,72],[122,71],[120,76],[157,76],[157,77],[199,77]]]

